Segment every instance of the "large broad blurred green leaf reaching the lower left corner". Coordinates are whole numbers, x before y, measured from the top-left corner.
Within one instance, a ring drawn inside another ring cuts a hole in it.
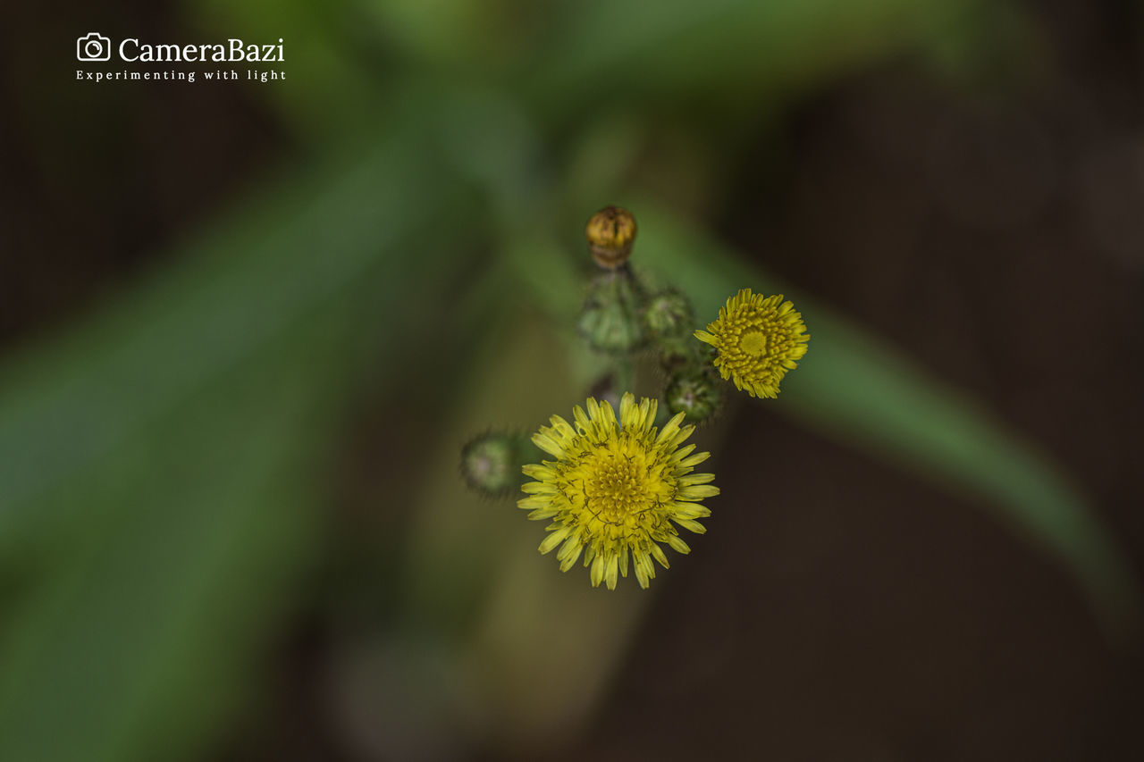
[[[423,340],[472,251],[464,185],[442,188],[432,156],[394,135],[293,178],[9,363],[0,759],[190,756],[241,699],[320,547],[347,391]]]

